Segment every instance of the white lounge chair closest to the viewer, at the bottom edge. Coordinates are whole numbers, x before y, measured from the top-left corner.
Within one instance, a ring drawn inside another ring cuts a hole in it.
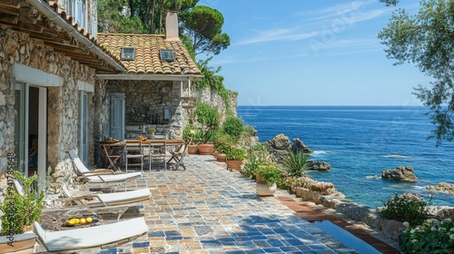
[[[148,231],[143,217],[83,229],[46,232],[35,221],[35,233],[45,249],[51,252],[75,252],[79,249],[122,244]]]

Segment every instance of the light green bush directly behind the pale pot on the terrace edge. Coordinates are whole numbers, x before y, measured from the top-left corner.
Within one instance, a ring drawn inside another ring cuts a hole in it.
[[[263,165],[274,164],[273,157],[266,145],[256,144],[247,150],[248,160],[244,163],[242,175],[247,178],[255,176],[255,170]]]

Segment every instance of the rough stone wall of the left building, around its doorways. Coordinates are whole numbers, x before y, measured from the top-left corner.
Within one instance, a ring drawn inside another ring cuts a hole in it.
[[[77,148],[78,82],[95,83],[95,71],[54,53],[28,34],[15,33],[0,25],[0,173],[6,169],[6,153],[15,151],[15,64],[22,64],[60,78],[59,86],[37,81],[47,87],[47,164],[54,171],[54,181],[64,181],[73,173],[66,151]],[[100,86],[100,85],[98,85]],[[94,94],[89,93],[90,119],[97,119]],[[89,121],[90,122],[90,121]],[[94,150],[94,123],[89,123],[89,153]],[[92,159],[93,162],[93,159]]]

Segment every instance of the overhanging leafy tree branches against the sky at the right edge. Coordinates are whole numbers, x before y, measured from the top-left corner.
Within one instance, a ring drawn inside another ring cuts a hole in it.
[[[397,0],[380,0],[396,5]],[[404,9],[393,12],[390,23],[380,31],[381,44],[396,64],[413,63],[433,78],[431,87],[419,84],[415,95],[429,107],[435,125],[429,138],[439,144],[454,139],[454,0],[421,0],[417,15]]]

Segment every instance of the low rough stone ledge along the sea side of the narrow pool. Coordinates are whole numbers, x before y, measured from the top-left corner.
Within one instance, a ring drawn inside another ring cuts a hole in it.
[[[398,240],[403,223],[397,220],[388,220],[380,218],[377,210],[360,205],[352,200],[346,200],[345,195],[336,192],[331,195],[321,195],[320,192],[308,190],[305,188],[296,188],[293,190],[302,200],[312,201],[316,204],[322,204],[324,207],[335,209],[341,214],[349,217],[351,220],[362,222],[374,230],[379,230],[384,236],[390,239]]]

